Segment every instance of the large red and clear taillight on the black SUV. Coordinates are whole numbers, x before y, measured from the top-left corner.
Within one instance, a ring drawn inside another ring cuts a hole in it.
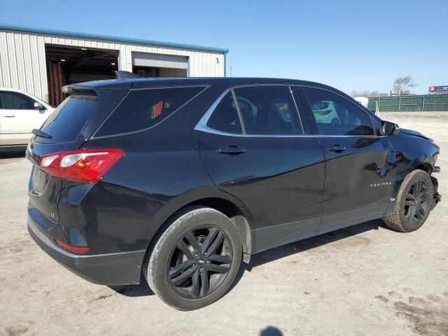
[[[39,167],[62,179],[97,183],[123,155],[118,148],[49,153],[41,156]]]

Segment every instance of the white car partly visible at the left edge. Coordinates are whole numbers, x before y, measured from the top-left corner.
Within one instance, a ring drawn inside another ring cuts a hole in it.
[[[27,92],[0,87],[0,151],[27,146],[31,130],[41,127],[54,110]]]

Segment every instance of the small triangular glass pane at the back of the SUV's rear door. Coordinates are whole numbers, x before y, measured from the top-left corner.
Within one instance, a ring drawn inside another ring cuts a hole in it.
[[[213,114],[207,122],[207,126],[221,132],[241,134],[241,123],[239,123],[237,107],[232,92],[228,92],[214,109]]]

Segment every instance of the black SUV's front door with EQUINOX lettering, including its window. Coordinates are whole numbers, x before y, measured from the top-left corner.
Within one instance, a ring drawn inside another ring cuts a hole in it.
[[[316,87],[299,90],[325,154],[320,230],[379,218],[390,202],[397,162],[387,137],[378,136],[374,120],[337,92]]]

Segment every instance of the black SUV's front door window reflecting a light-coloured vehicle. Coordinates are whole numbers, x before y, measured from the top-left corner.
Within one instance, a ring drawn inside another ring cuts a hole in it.
[[[304,87],[323,135],[374,135],[370,116],[348,100],[325,90]]]

